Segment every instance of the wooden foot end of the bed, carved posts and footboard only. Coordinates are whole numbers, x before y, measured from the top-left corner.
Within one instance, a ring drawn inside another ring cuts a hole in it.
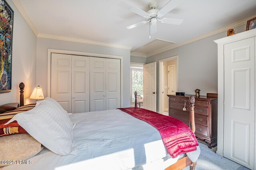
[[[135,107],[137,106],[137,92],[134,92],[135,96]],[[194,117],[194,103],[195,103],[195,98],[194,96],[190,96],[189,101],[184,100],[183,102],[189,103],[190,104],[190,129],[192,130],[193,133],[195,133],[196,127],[195,127],[195,117]],[[165,168],[165,170],[182,170],[183,168],[186,168],[187,166],[190,166],[190,170],[195,170],[196,169],[196,162],[192,162],[188,156],[184,156],[180,159],[175,164],[172,164],[171,166],[168,166]]]

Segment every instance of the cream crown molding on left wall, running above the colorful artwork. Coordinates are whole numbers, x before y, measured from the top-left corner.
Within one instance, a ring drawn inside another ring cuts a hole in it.
[[[38,36],[38,31],[35,27],[35,25],[32,23],[32,21],[30,20],[28,14],[26,13],[25,9],[23,8],[22,4],[20,3],[20,0],[12,0],[12,2],[14,3],[14,5],[16,6],[16,8],[18,9],[18,11],[20,12],[20,14],[22,15],[22,17],[24,18],[24,20],[28,23],[28,26],[32,29],[32,31],[34,32],[34,34],[36,35],[36,37]]]

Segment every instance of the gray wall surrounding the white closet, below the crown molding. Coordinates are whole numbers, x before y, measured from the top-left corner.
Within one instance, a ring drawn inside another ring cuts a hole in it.
[[[48,49],[60,49],[68,51],[80,51],[106,55],[118,55],[123,57],[123,107],[130,107],[130,50],[61,41],[55,39],[37,38],[36,47],[36,84],[43,89],[47,96],[47,51]],[[127,79],[127,77],[129,77]]]

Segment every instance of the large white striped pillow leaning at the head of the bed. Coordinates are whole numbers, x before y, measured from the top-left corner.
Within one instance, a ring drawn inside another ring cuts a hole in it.
[[[6,124],[14,120],[52,152],[75,154],[73,150],[76,144],[72,133],[75,124],[52,103],[42,101],[34,109],[15,115]]]

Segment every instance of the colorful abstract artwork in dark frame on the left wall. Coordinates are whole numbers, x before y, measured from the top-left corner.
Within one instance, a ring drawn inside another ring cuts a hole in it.
[[[12,90],[13,10],[0,0],[0,93]]]

